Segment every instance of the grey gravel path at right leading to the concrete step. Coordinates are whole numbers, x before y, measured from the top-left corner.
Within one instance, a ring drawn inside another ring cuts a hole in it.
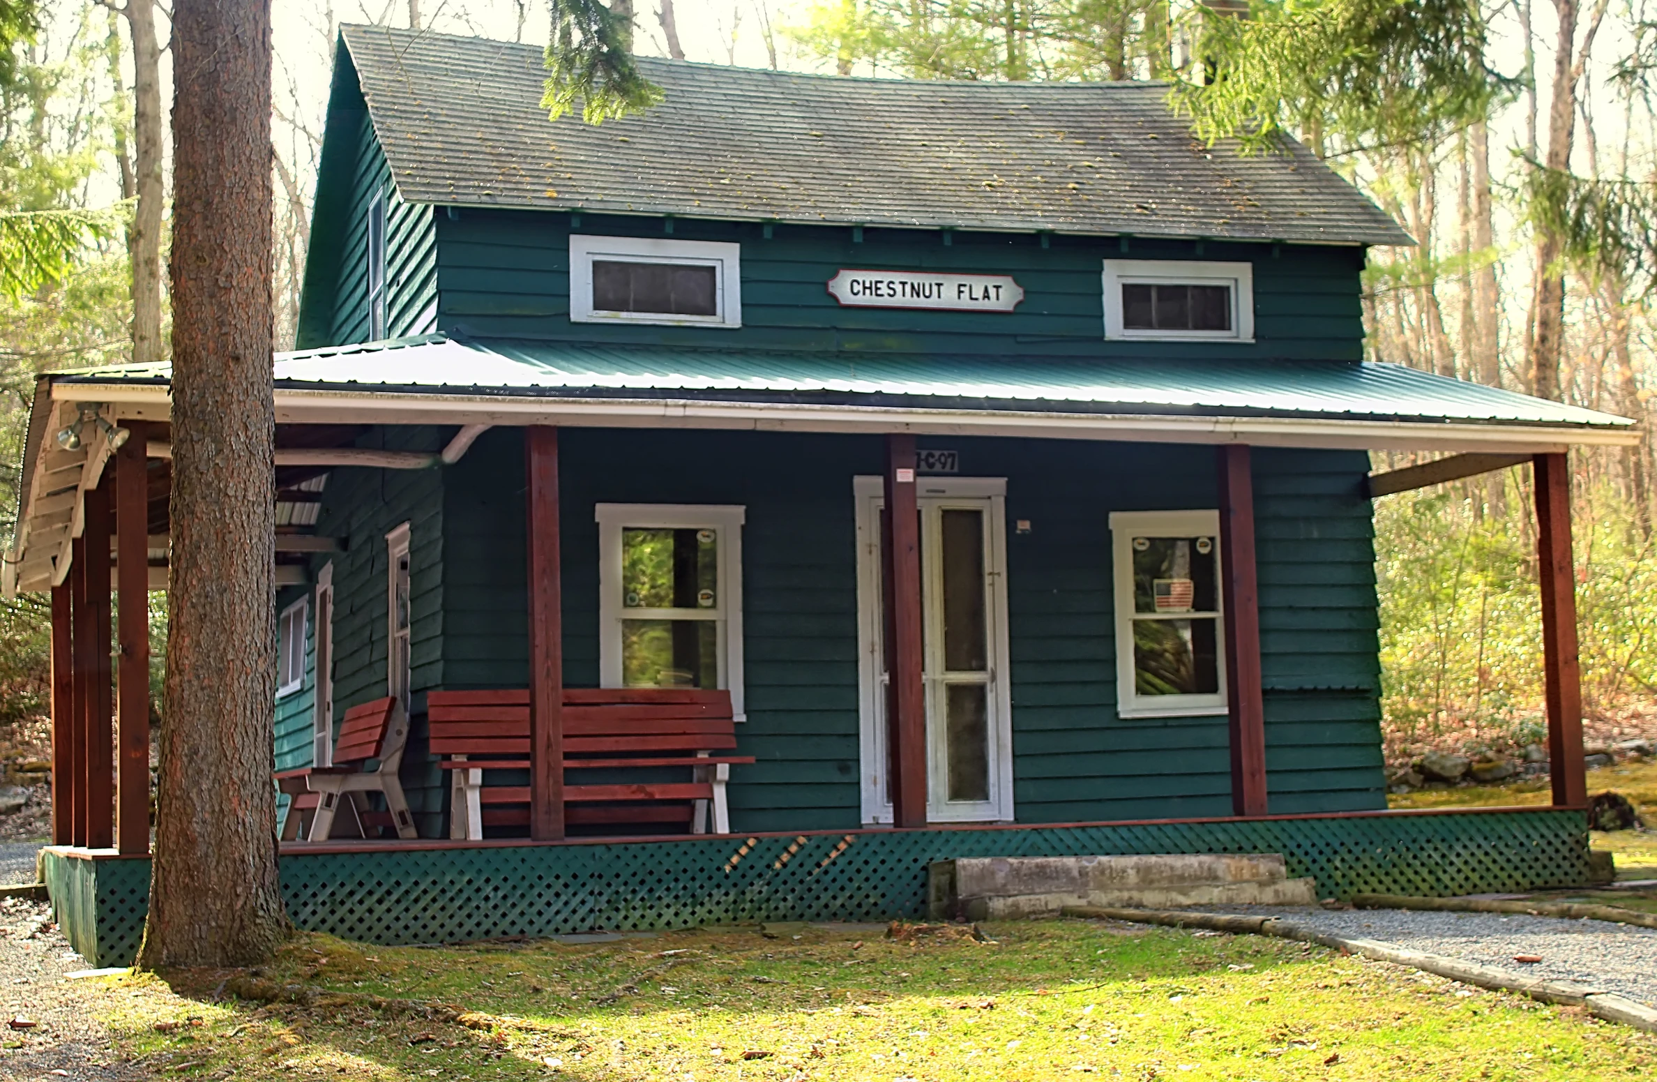
[[[1596,984],[1657,1007],[1657,928],[1506,913],[1289,906],[1225,911],[1271,913],[1349,940],[1380,940],[1529,976]],[[1516,963],[1514,954],[1538,954],[1541,961]]]

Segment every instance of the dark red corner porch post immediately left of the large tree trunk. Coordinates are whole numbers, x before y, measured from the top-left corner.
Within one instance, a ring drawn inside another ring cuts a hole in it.
[[[116,848],[149,853],[149,476],[144,423],[116,451],[114,525],[119,593]]]

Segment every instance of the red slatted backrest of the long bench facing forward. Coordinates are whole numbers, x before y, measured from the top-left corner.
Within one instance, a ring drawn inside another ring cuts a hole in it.
[[[529,691],[431,691],[437,756],[527,756]],[[565,688],[563,756],[694,754],[736,747],[729,691]]]

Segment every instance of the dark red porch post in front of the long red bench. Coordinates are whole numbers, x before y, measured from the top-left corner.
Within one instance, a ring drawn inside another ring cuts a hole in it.
[[[563,631],[558,563],[558,429],[524,432],[529,481],[529,833],[563,837]]]

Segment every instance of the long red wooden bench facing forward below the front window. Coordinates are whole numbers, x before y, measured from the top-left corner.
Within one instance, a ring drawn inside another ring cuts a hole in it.
[[[449,835],[529,824],[529,785],[484,785],[484,770],[529,767],[529,691],[431,691],[431,751],[452,770]],[[731,832],[726,780],[736,726],[731,693],[689,688],[565,688],[563,769],[689,767],[689,782],[565,784],[568,825],[671,824]]]

